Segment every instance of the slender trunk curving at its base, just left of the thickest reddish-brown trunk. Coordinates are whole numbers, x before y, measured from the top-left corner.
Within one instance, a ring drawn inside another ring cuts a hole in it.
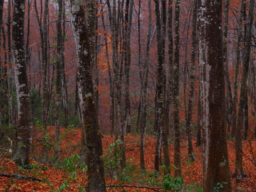
[[[190,66],[190,90],[188,99],[188,116],[186,122],[187,144],[188,144],[188,156],[194,161],[196,157],[193,151],[192,144],[192,113],[193,113],[193,101],[194,101],[194,89],[195,89],[195,64],[196,64],[196,19],[197,19],[197,0],[193,1],[193,14],[192,14],[192,52],[191,52],[191,66]],[[186,77],[185,77],[186,78]]]

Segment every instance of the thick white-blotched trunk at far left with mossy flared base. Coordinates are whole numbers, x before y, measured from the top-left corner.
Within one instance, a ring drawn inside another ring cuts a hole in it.
[[[13,38],[13,55],[18,101],[18,140],[13,153],[13,160],[20,165],[29,163],[30,146],[32,144],[32,115],[24,50],[25,4],[25,0],[14,0],[14,10],[16,11],[13,12],[12,21],[12,36],[17,37]]]

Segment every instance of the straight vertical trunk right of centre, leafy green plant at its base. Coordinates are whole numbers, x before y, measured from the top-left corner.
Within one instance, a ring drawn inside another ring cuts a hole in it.
[[[180,0],[175,0],[174,7],[174,171],[175,177],[181,176],[180,162],[180,109],[179,109],[179,84],[180,84]]]

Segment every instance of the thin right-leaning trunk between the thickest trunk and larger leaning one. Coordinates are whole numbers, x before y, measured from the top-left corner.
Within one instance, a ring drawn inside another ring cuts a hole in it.
[[[240,16],[239,16],[239,22],[238,22],[238,36],[237,36],[237,43],[236,43],[236,73],[235,73],[235,82],[234,82],[234,102],[233,102],[231,138],[234,138],[236,134],[236,113],[237,113],[236,106],[238,104],[238,74],[239,74],[239,66],[240,66],[242,21],[243,21],[243,14],[244,14],[243,7],[244,7],[244,0],[241,0]]]

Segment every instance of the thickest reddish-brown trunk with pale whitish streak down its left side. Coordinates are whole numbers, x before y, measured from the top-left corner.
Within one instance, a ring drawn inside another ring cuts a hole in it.
[[[203,190],[218,183],[231,191],[226,138],[225,80],[222,38],[222,1],[199,0],[199,67],[202,104]],[[218,151],[218,153],[216,153]]]

